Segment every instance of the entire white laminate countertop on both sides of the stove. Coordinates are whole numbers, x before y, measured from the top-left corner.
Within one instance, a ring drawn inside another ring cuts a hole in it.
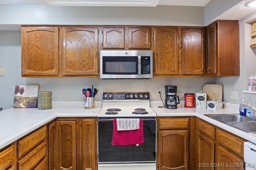
[[[157,116],[196,116],[226,131],[234,133],[252,143],[256,143],[256,134],[246,133],[204,114],[237,114],[229,109],[208,110],[196,108],[166,109],[151,107]],[[0,112],[0,149],[48,123],[56,117],[97,117],[101,107],[84,109],[83,107],[53,108],[38,110],[37,108],[10,108]]]

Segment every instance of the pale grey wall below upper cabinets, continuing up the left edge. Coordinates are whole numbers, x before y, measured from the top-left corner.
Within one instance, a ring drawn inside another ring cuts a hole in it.
[[[164,86],[177,85],[180,98],[184,93],[196,93],[202,90],[202,84],[215,84],[215,78],[152,78],[150,80],[101,80],[100,78],[21,78],[20,31],[0,31],[0,68],[5,68],[6,75],[0,76],[0,106],[4,109],[13,107],[14,87],[16,84],[39,84],[40,91],[53,92],[53,100],[84,100],[83,88],[92,84],[99,90],[97,101],[102,100],[102,91],[149,91],[151,100],[156,97],[156,90]],[[56,90],[62,91],[62,98],[56,98]]]

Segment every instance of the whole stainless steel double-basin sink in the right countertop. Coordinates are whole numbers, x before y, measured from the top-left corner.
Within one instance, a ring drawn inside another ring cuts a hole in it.
[[[256,133],[256,117],[249,118],[238,114],[210,114],[205,116],[218,120],[247,133]]]

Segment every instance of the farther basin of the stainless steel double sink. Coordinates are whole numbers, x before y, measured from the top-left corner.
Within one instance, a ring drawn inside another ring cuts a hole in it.
[[[242,115],[234,115],[234,114],[222,114],[222,115],[212,114],[212,115],[206,115],[206,116],[222,122],[256,121],[255,119],[251,119]]]

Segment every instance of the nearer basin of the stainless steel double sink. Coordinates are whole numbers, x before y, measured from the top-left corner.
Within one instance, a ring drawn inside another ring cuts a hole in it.
[[[228,125],[236,127],[247,133],[256,133],[256,121],[255,122],[227,122]]]

